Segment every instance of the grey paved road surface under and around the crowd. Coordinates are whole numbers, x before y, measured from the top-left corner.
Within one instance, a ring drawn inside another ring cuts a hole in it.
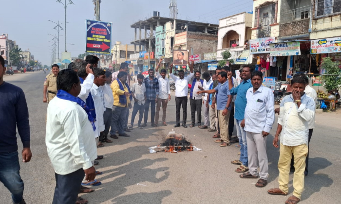
[[[54,170],[46,153],[45,113],[42,103],[42,84],[45,74],[19,73],[5,76],[4,80],[21,87],[30,112],[31,162],[21,165],[25,183],[24,198],[28,204],[50,204],[53,197]],[[168,106],[169,123],[166,127],[143,130],[134,129],[129,138],[119,138],[112,144],[98,149],[104,159],[96,167],[103,171],[98,176],[102,185],[94,187],[90,194],[81,195],[90,204],[220,204],[220,203],[284,203],[288,196],[271,196],[266,190],[278,186],[277,162],[279,149],[272,146],[275,128],[268,136],[269,184],[265,188],[254,187],[257,180],[239,179],[234,172],[237,166],[230,164],[239,152],[234,145],[218,147],[208,134],[195,128],[176,128],[201,152],[154,153],[148,147],[157,145],[163,136],[174,129],[174,93]],[[188,106],[188,119],[190,118]],[[340,114],[318,114],[317,125],[310,143],[309,176],[305,178],[302,204],[340,203],[341,199],[341,151]],[[277,119],[276,119],[277,121]],[[273,127],[277,127],[275,124]],[[22,145],[19,142],[19,150]],[[289,191],[292,193],[290,174]],[[139,185],[141,184],[141,185]],[[0,185],[0,204],[10,204],[10,194]],[[291,194],[290,194],[291,195]]]

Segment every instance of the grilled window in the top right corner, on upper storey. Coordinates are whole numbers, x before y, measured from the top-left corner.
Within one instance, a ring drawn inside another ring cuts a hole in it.
[[[315,0],[315,17],[341,14],[341,0]]]

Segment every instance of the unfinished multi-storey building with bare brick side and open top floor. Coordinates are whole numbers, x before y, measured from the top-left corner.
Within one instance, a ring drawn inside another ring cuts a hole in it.
[[[216,51],[218,33],[216,24],[159,17],[157,14],[146,20],[137,21],[131,27],[135,31],[134,40],[131,42],[134,51],[137,52],[139,48],[140,51],[153,52],[155,58],[164,57],[166,63],[171,62],[172,51],[176,49],[189,50],[189,55]],[[155,60],[151,62],[153,68]]]

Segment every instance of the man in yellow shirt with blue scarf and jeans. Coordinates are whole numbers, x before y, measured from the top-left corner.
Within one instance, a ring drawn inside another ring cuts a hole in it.
[[[117,75],[117,79],[111,84],[111,89],[114,96],[114,106],[111,121],[110,137],[117,139],[116,129],[118,136],[130,136],[124,132],[124,124],[126,121],[126,113],[128,107],[131,107],[131,91],[127,82],[127,72],[121,71]]]

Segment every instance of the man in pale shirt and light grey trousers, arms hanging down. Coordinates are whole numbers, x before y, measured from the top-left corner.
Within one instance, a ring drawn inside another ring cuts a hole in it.
[[[253,71],[251,84],[253,87],[246,92],[245,127],[248,168],[240,178],[258,178],[256,187],[267,185],[268,163],[266,154],[266,136],[269,135],[275,119],[274,96],[272,90],[262,85],[263,74]]]

